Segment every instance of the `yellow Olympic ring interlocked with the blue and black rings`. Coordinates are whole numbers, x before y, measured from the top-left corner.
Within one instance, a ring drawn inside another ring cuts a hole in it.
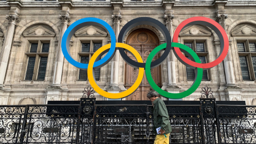
[[[109,93],[106,92],[104,90],[102,90],[98,84],[95,82],[94,76],[93,76],[93,63],[95,62],[95,60],[97,59],[98,55],[100,55],[102,52],[110,49],[111,44],[107,44],[104,45],[102,47],[100,47],[100,49],[98,49],[93,55],[91,60],[89,61],[88,64],[88,78],[89,78],[89,82],[91,84],[91,86],[94,88],[94,90],[99,93],[100,95],[104,95],[104,97],[106,98],[110,98],[110,99],[120,99],[120,98],[124,98],[127,97],[128,95],[132,94],[134,91],[136,91],[138,89],[138,87],[140,86],[140,83],[142,82],[142,78],[144,75],[144,68],[139,68],[139,75],[135,81],[135,83],[130,87],[130,89],[121,92],[121,93]],[[130,51],[134,57],[137,59],[138,62],[143,63],[142,58],[140,57],[140,54],[138,51],[136,51],[132,46],[127,45],[127,44],[123,44],[123,43],[116,43],[116,47],[122,47],[128,51]]]

